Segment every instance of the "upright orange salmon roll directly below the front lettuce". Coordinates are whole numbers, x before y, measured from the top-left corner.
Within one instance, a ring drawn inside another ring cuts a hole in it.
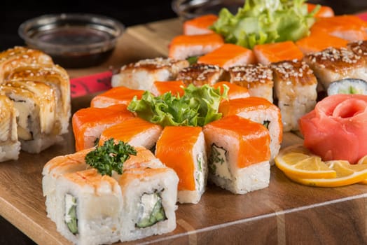
[[[155,156],[179,176],[177,200],[198,203],[207,184],[207,154],[201,127],[167,126]]]

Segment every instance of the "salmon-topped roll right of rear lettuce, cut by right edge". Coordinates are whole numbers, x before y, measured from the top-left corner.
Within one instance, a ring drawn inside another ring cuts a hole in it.
[[[336,15],[328,18],[317,18],[310,31],[324,32],[348,41],[367,39],[367,22],[356,15]]]

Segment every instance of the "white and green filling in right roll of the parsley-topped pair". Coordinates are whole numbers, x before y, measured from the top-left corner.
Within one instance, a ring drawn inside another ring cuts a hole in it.
[[[167,219],[160,193],[144,193],[141,196],[138,208],[138,222],[135,224],[137,228],[147,228]]]

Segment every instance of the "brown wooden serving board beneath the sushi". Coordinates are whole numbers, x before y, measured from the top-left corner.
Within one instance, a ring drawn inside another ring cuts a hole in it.
[[[91,69],[69,70],[71,77],[105,71],[111,66],[167,55],[167,43],[181,32],[179,20],[127,29],[113,57]],[[73,99],[72,109],[88,107],[93,94]],[[282,146],[300,144],[284,134]],[[56,155],[74,152],[74,137],[41,154],[21,153],[17,161],[0,163],[0,215],[37,244],[70,244],[46,216],[42,195],[43,165]],[[270,186],[233,195],[208,186],[198,204],[180,204],[176,230],[125,244],[367,244],[367,186],[312,188],[293,183],[277,167]]]

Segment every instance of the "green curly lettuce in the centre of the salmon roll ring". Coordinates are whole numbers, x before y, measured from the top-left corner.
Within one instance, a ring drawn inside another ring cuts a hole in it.
[[[188,85],[183,88],[182,97],[166,92],[154,97],[151,92],[144,92],[141,99],[134,97],[127,109],[151,123],[165,126],[204,126],[221,118],[218,112],[221,99],[226,99],[228,86],[220,89],[209,85],[195,87]]]

